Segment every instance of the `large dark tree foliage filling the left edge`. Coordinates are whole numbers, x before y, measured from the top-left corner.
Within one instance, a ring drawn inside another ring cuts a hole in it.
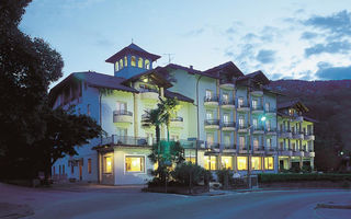
[[[30,0],[0,1],[0,177],[48,173],[82,138],[98,136],[89,117],[48,106],[48,85],[63,76],[59,53],[19,30]]]

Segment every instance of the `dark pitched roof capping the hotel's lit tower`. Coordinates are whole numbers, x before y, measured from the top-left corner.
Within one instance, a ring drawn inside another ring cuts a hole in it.
[[[143,48],[140,48],[139,46],[132,43],[129,46],[124,47],[122,50],[114,54],[113,56],[107,58],[105,61],[110,62],[110,64],[114,64],[126,55],[136,55],[136,56],[140,56],[143,58],[149,58],[152,61],[160,58],[160,56],[155,55],[155,54],[150,54],[150,53],[144,50]]]

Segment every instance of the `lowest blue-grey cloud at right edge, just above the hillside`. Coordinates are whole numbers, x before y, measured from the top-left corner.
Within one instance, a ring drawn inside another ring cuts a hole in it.
[[[348,67],[326,67],[326,66],[319,65],[319,69],[316,72],[316,77],[322,80],[351,79],[351,66],[348,66]]]

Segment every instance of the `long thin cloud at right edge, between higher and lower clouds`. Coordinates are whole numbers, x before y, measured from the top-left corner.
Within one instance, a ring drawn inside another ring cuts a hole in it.
[[[328,54],[346,54],[351,49],[351,44],[348,41],[330,42],[327,44],[316,44],[312,47],[305,48],[305,56],[318,55],[322,53]]]

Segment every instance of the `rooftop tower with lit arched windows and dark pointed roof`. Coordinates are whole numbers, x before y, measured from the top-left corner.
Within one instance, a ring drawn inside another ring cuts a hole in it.
[[[150,54],[135,44],[124,47],[106,59],[114,65],[114,76],[129,79],[138,73],[152,69],[152,62],[160,56]]]

